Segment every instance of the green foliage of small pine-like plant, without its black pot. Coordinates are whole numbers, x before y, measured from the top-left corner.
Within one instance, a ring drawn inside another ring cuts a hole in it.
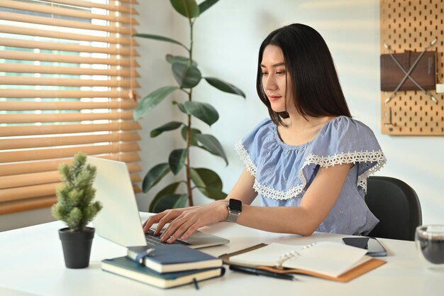
[[[64,221],[72,231],[82,231],[101,210],[100,202],[94,202],[96,190],[92,187],[96,168],[86,165],[87,155],[74,155],[72,165],[59,166],[62,185],[57,187],[57,203],[52,206],[52,216]]]

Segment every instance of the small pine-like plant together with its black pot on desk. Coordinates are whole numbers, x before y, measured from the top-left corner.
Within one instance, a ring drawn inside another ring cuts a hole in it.
[[[63,256],[67,268],[86,268],[89,265],[94,228],[87,224],[101,210],[101,203],[94,202],[96,190],[92,183],[96,168],[87,165],[87,155],[77,153],[71,165],[59,166],[62,185],[57,187],[57,203],[52,206],[52,216],[64,221],[66,228],[59,229]]]

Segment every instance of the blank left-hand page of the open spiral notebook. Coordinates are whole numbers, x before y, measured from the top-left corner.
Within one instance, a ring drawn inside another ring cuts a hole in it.
[[[231,256],[230,261],[238,264],[274,266],[282,254],[300,251],[304,246],[270,243],[270,245],[256,250]]]

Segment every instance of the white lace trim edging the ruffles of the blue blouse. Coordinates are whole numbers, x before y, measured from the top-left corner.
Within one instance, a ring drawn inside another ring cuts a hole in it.
[[[251,173],[251,175],[256,176],[256,166],[252,163],[250,155],[248,151],[245,149],[241,141],[235,144],[235,150],[238,153],[240,160],[243,161],[247,170]],[[345,163],[372,163],[377,162],[373,168],[365,171],[362,175],[357,177],[357,185],[362,187],[364,192],[367,193],[367,177],[372,175],[374,172],[377,172],[382,168],[382,166],[387,162],[384,153],[381,150],[377,151],[355,151],[348,153],[340,153],[332,156],[318,156],[314,154],[310,154],[302,166],[301,170],[298,172],[299,180],[301,180],[301,184],[292,187],[291,189],[284,190],[275,190],[274,188],[267,187],[265,185],[260,184],[255,181],[253,185],[253,189],[261,194],[264,197],[269,197],[271,199],[290,199],[296,197],[298,194],[304,190],[306,186],[306,179],[304,177],[304,168],[306,165],[315,164],[320,165],[321,167],[329,167],[333,165],[342,165]]]

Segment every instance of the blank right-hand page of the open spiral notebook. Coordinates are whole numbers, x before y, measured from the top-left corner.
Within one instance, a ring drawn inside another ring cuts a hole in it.
[[[367,250],[324,241],[304,248],[299,253],[301,256],[285,261],[283,266],[338,277],[355,267],[359,261],[364,261]]]

